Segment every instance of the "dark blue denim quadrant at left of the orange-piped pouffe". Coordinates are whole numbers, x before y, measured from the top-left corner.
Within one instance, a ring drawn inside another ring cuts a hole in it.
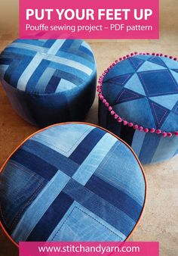
[[[1,219],[11,233],[29,204],[35,200],[47,181],[27,167],[8,161],[0,180]]]

